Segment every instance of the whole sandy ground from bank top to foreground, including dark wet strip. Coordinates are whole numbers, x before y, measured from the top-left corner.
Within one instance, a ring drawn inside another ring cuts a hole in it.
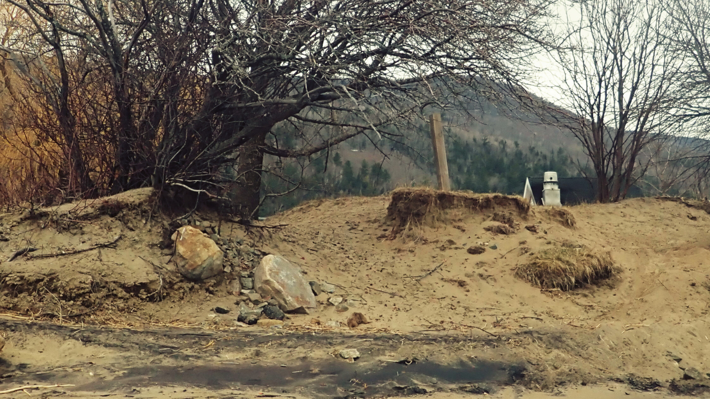
[[[58,383],[75,386],[38,394],[443,399],[708,389],[706,204],[393,197],[310,202],[263,222],[274,228],[209,212],[173,221],[155,212],[151,190],[0,214],[0,391]],[[228,273],[195,283],[175,272],[168,237],[182,223],[217,234]],[[27,247],[36,250],[9,261]],[[563,247],[611,253],[621,271],[565,292],[515,277],[535,253]],[[283,326],[236,322],[229,280],[266,253],[337,285],[349,310],[326,302]],[[353,312],[368,323],[347,327]],[[361,357],[346,361],[341,349]],[[703,378],[683,380],[689,367]]]

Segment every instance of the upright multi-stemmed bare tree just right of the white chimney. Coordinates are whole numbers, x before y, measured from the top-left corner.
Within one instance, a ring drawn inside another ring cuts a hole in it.
[[[642,150],[669,138],[679,56],[659,1],[586,0],[559,53],[566,106],[556,119],[579,139],[600,202],[618,201],[648,168]]]

